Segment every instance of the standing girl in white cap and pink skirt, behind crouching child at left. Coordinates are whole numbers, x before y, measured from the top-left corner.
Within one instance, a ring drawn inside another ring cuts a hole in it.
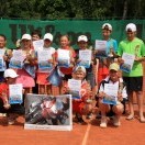
[[[16,83],[22,83],[25,89],[25,93],[32,93],[32,88],[35,86],[35,53],[32,49],[32,37],[30,34],[23,34],[21,38],[21,49],[23,55],[23,68],[18,69],[19,77]]]

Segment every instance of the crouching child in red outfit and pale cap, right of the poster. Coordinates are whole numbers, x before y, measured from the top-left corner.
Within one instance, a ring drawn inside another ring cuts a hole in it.
[[[76,119],[79,123],[83,123],[82,115],[88,114],[92,110],[91,97],[92,91],[90,85],[85,80],[86,68],[83,66],[77,66],[72,72],[74,80],[81,80],[80,98],[72,98],[72,112],[76,113]],[[69,86],[64,88],[65,93],[70,93]]]

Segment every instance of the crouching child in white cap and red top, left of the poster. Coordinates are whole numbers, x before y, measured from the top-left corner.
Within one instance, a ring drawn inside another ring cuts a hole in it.
[[[21,105],[22,103],[22,86],[20,88],[18,88],[20,91],[20,94],[19,91],[16,91],[16,100],[20,100],[20,102],[11,102],[10,101],[10,97],[11,97],[11,87],[16,85],[15,83],[15,80],[18,78],[18,74],[9,68],[4,71],[4,79],[5,79],[5,82],[1,83],[0,85],[0,105],[2,108],[2,112],[4,113],[8,113],[8,124],[11,125],[11,124],[14,124],[15,122],[15,119],[18,118],[18,114],[24,114],[24,108],[23,105]],[[15,90],[13,90],[15,91]],[[13,92],[14,94],[14,92]],[[19,97],[20,96],[20,97]]]

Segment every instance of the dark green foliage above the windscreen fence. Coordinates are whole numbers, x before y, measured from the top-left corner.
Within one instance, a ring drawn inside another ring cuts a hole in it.
[[[41,20],[133,19],[143,18],[144,8],[144,0],[1,0],[0,16]]]

